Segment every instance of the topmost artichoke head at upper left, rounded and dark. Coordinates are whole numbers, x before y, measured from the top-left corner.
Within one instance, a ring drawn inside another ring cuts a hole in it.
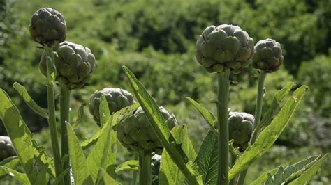
[[[52,8],[41,8],[31,17],[31,38],[41,45],[52,46],[66,40],[66,21],[63,15]]]

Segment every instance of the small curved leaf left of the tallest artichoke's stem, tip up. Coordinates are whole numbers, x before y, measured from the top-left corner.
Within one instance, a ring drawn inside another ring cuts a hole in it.
[[[22,97],[24,102],[38,115],[41,115],[41,117],[48,119],[48,113],[44,108],[41,108],[41,106],[38,106],[36,102],[34,102],[34,99],[31,98],[27,90],[22,86],[20,83],[15,82],[13,84],[13,88],[17,91],[17,93]]]

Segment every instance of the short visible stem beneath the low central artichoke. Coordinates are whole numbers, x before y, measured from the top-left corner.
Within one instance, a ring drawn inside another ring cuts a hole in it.
[[[139,184],[152,184],[152,170],[151,170],[152,152],[142,151],[139,153]]]

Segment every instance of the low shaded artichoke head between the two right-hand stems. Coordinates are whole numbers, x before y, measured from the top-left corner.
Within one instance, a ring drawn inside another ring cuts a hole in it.
[[[254,116],[243,112],[230,112],[228,118],[229,140],[233,139],[233,147],[244,151],[248,147],[253,131]]]

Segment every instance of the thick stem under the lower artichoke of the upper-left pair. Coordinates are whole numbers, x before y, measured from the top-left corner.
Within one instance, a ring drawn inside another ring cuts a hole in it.
[[[66,156],[66,161],[63,161],[62,170],[70,168],[70,158],[69,158],[69,146],[68,146],[68,134],[66,131],[66,122],[70,122],[70,93],[71,90],[68,89],[66,85],[61,84],[61,96],[60,96],[60,113],[61,113],[61,156],[62,159]],[[70,185],[70,171],[64,175],[64,184]]]

